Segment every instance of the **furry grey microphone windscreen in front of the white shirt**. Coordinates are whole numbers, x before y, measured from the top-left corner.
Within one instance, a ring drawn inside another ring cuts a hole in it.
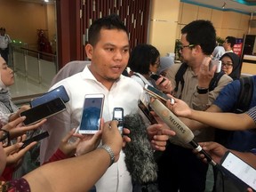
[[[132,176],[132,183],[140,184],[146,191],[157,192],[157,164],[154,159],[154,151],[148,140],[146,125],[140,114],[124,116],[124,127],[131,132],[131,142],[123,148],[127,170]]]

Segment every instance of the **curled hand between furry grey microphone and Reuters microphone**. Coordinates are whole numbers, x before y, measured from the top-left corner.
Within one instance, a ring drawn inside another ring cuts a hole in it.
[[[167,140],[170,136],[174,136],[175,132],[170,130],[164,124],[152,124],[147,127],[148,139],[150,140],[151,147],[155,150],[164,151]]]

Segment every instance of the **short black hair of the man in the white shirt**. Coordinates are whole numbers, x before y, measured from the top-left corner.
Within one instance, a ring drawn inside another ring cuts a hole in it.
[[[120,20],[118,15],[111,14],[92,22],[92,25],[89,28],[88,32],[88,42],[89,44],[92,44],[92,46],[98,43],[101,29],[124,30],[128,36],[128,31],[127,28],[124,26],[123,21]]]

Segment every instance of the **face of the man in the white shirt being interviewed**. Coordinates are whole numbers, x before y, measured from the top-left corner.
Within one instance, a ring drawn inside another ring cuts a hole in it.
[[[114,82],[124,71],[129,59],[128,36],[123,30],[101,29],[99,42],[86,45],[86,53],[92,60],[90,70],[98,81]]]

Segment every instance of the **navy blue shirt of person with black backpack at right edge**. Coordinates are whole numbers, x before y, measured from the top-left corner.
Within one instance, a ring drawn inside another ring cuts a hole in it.
[[[256,76],[252,76],[253,81],[253,93],[250,108],[256,106]],[[234,82],[227,84],[220,92],[218,98],[213,102],[214,105],[218,106],[223,112],[234,112],[236,109],[236,101],[238,100],[240,92],[240,82],[235,80]],[[221,131],[222,132],[222,131]],[[224,132],[224,133],[223,133]],[[227,148],[248,151],[251,148],[256,148],[256,133],[250,131],[236,131],[236,132],[225,132],[223,131],[222,137],[227,136],[224,144]],[[218,134],[217,134],[218,137]],[[221,137],[221,135],[220,135]],[[223,138],[221,138],[223,139]],[[219,140],[217,140],[219,141]]]

